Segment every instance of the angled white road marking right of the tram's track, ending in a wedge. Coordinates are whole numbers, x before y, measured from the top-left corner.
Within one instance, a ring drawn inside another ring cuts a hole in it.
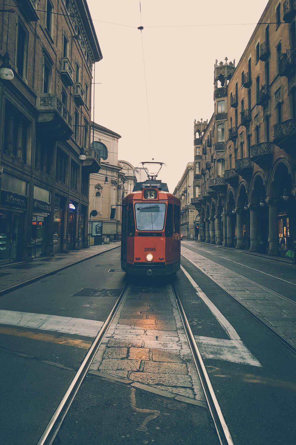
[[[203,300],[203,302],[209,307],[213,316],[221,324],[222,328],[228,334],[230,340],[223,340],[218,338],[194,336],[195,340],[200,347],[201,353],[211,359],[216,360],[227,360],[234,363],[249,364],[251,366],[262,366],[260,362],[251,354],[248,348],[245,347],[237,334],[236,330],[221,314],[219,309],[209,300],[205,293],[201,290],[193,278],[185,271],[184,267],[181,266],[182,271],[188,278],[194,289],[197,291],[197,295]]]

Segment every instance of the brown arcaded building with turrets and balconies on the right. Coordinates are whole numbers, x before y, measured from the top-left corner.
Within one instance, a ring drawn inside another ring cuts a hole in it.
[[[270,0],[237,66],[215,63],[213,116],[194,124],[200,240],[276,256],[296,239],[295,15]]]

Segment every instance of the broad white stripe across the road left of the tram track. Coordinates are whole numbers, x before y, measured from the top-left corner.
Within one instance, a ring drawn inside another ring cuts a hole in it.
[[[16,312],[0,310],[0,324],[19,326],[42,331],[63,332],[85,337],[95,337],[104,322],[85,320],[83,318],[60,317],[56,315],[34,314],[30,312]]]

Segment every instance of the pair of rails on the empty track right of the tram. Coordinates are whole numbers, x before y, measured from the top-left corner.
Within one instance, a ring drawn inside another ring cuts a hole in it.
[[[181,254],[182,255],[182,254]],[[296,347],[294,345],[292,345],[290,342],[288,342],[288,340],[286,340],[283,336],[281,336],[278,332],[276,332],[275,329],[273,329],[271,326],[269,326],[267,323],[264,322],[264,320],[262,320],[259,316],[257,316],[256,314],[254,314],[254,312],[252,312],[249,307],[246,307],[245,304],[243,304],[239,299],[237,299],[235,296],[233,296],[230,292],[228,292],[227,290],[225,290],[224,287],[222,287],[219,283],[217,283],[217,281],[215,279],[213,279],[209,274],[207,274],[201,267],[198,267],[197,264],[193,263],[193,261],[191,261],[189,258],[187,258],[185,255],[182,255],[182,257],[184,259],[186,259],[193,267],[195,267],[198,271],[200,271],[203,275],[205,275],[213,284],[215,284],[215,286],[218,287],[219,290],[221,290],[225,295],[227,295],[230,299],[232,299],[235,303],[237,303],[239,306],[243,307],[245,309],[245,311],[247,311],[249,313],[249,315],[251,315],[255,320],[257,320],[262,326],[264,326],[264,328],[268,329],[269,332],[272,333],[272,335],[274,335],[278,340],[280,340],[281,343],[283,343],[285,346],[287,346],[287,348],[290,349],[290,351],[292,351],[294,354],[296,354]],[[204,257],[205,259],[207,259],[206,257]],[[216,263],[215,261],[209,260],[214,264],[217,264],[219,266],[221,266],[219,263]],[[226,266],[223,266],[225,269],[228,269],[229,271],[233,272],[231,269],[229,269]],[[184,271],[184,268],[181,267],[182,270]],[[187,273],[187,272],[186,272]],[[271,291],[270,289],[268,289],[267,287],[262,286],[261,284],[256,283],[255,281],[248,279],[246,277],[244,277],[243,275],[237,273],[237,272],[233,272],[238,276],[241,276],[244,279],[247,279],[250,283],[254,283],[257,286],[260,286],[264,289],[266,289],[267,291],[272,292],[273,294],[276,294],[286,300],[288,300],[291,303],[295,304],[295,301],[285,297],[284,295],[280,295],[275,291]],[[187,273],[188,274],[188,273]],[[186,274],[185,274],[186,275]],[[188,274],[189,275],[189,274]]]

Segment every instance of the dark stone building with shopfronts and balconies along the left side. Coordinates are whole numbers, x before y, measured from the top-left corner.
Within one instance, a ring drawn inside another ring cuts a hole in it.
[[[102,54],[86,0],[12,6],[0,12],[0,62],[8,48],[14,73],[0,79],[0,263],[86,247],[89,175],[100,168],[88,147]]]

